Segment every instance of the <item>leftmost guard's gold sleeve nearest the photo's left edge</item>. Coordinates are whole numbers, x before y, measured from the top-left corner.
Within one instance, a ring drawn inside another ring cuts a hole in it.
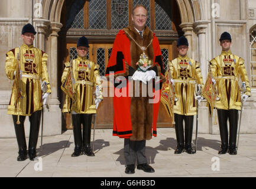
[[[15,59],[14,53],[9,51],[5,58],[5,73],[8,79],[14,80],[14,71],[16,70],[17,60]]]

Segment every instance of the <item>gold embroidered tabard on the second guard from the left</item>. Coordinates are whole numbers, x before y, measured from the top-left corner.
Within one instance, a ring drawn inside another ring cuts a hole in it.
[[[87,60],[86,57],[77,57],[72,61],[72,64],[65,63],[65,69],[61,77],[62,83],[66,80],[70,67],[72,67],[75,82],[74,102],[72,102],[69,96],[66,96],[62,112],[96,113],[95,96],[93,96],[93,90],[96,85],[99,86],[99,91],[101,92],[98,98],[103,99],[98,64]]]

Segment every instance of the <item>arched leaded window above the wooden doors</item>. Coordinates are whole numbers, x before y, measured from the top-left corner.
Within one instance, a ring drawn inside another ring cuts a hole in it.
[[[152,0],[75,0],[66,7],[66,28],[122,29],[132,24],[132,8],[137,4],[147,8],[146,25],[151,30],[172,30],[171,18]]]

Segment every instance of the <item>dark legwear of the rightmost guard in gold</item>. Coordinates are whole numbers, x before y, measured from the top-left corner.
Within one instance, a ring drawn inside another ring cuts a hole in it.
[[[228,120],[229,120],[229,146],[236,145],[236,135],[238,129],[238,110],[218,109],[219,132],[221,143],[228,145]]]

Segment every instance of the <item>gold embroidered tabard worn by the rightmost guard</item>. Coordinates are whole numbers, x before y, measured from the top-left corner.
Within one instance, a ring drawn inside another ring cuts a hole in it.
[[[219,97],[215,107],[226,110],[241,110],[239,77],[242,82],[245,82],[247,89],[245,94],[251,96],[251,87],[249,86],[244,59],[235,56],[231,51],[222,51],[219,56],[210,61],[210,69],[216,80],[216,90]]]

